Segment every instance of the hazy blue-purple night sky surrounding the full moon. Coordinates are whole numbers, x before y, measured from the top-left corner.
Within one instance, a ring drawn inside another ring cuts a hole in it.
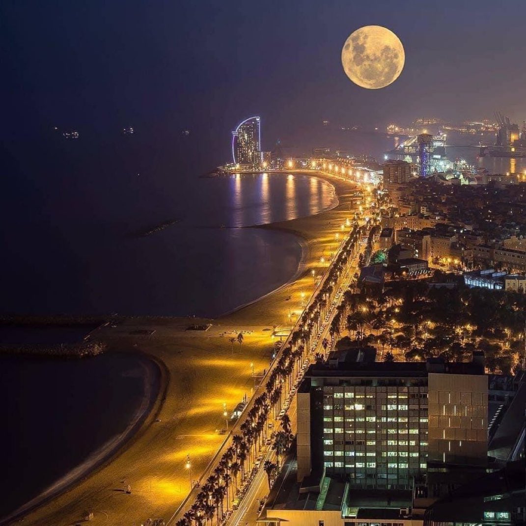
[[[2,134],[129,123],[214,136],[253,114],[272,138],[323,119],[499,110],[522,122],[525,15],[523,0],[3,0]],[[368,24],[406,49],[400,78],[381,90],[353,85],[340,63],[347,36]]]

